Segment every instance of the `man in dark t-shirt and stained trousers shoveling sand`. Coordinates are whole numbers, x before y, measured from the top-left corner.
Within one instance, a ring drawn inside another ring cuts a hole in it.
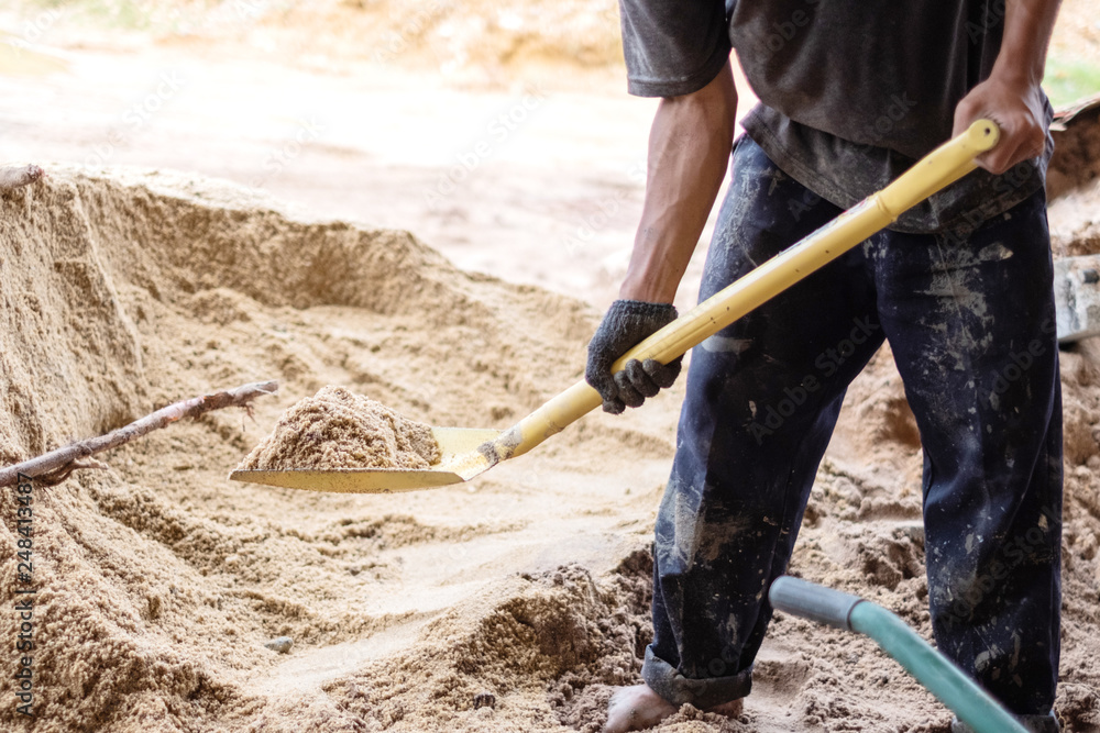
[[[691,355],[657,517],[644,685],[605,731],[683,703],[737,717],[845,389],[889,342],[924,451],[938,648],[1057,731],[1062,404],[1041,89],[1057,0],[622,0],[628,91],[662,98],[626,277],[588,346],[604,410],[676,378],[610,365],[676,316],[730,158],[700,299],[734,282],[975,120],[981,169],[707,338]],[[760,100],[734,137],[736,48]],[[970,729],[955,720],[954,733]]]

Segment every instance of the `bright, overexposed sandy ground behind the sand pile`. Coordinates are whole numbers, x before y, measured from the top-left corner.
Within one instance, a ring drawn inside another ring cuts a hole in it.
[[[619,68],[455,78],[407,51],[320,70],[255,44],[89,35],[69,20],[32,34],[63,47],[16,46],[9,65],[24,73],[0,75],[0,95],[18,100],[0,113],[0,159],[194,170],[312,214],[414,229],[466,269],[598,308],[615,298],[656,109],[625,93]],[[7,15],[10,41],[26,22]],[[754,100],[743,85],[741,110]],[[679,302],[694,297],[685,286]]]

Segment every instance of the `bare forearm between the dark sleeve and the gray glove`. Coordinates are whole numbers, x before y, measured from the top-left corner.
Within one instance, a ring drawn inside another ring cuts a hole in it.
[[[646,201],[619,297],[671,303],[726,175],[737,118],[729,64],[703,89],[661,100]]]

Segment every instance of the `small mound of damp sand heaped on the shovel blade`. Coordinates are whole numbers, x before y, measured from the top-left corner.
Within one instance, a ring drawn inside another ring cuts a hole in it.
[[[417,469],[438,463],[439,456],[431,426],[330,386],[284,412],[239,468]]]

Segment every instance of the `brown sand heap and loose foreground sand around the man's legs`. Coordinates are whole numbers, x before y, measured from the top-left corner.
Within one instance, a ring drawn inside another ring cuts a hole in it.
[[[470,486],[394,496],[230,482],[326,385],[430,424],[507,426],[580,378],[596,313],[457,270],[405,232],[316,221],[179,175],[53,168],[0,198],[0,455],[278,378],[34,489],[18,578],[0,495],[0,635],[34,588],[34,721],[53,731],[596,731],[649,642],[648,546],[683,380]],[[548,318],[552,314],[552,318]],[[1065,730],[1100,726],[1100,347],[1063,354]],[[889,352],[854,385],[792,571],[926,637],[920,445]],[[280,655],[264,646],[290,636]],[[739,721],[660,731],[922,731],[950,713],[866,638],[778,615]]]

